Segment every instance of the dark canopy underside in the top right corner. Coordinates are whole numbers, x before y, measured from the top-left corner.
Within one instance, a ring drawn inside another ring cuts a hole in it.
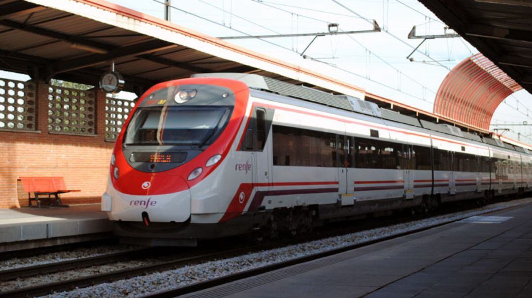
[[[532,93],[532,1],[419,2]]]

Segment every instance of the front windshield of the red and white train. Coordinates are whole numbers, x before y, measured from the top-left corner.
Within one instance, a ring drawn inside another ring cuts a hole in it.
[[[231,109],[226,106],[138,108],[126,131],[124,144],[209,145],[226,126]]]

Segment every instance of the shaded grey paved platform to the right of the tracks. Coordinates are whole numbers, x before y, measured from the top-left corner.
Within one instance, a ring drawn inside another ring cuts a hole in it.
[[[532,297],[532,204],[187,297]]]

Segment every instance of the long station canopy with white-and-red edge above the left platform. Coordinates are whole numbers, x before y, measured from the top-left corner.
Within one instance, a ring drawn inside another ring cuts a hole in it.
[[[103,0],[0,0],[0,69],[96,86],[114,62],[124,90],[194,73],[253,73],[365,99],[426,121],[487,130]]]

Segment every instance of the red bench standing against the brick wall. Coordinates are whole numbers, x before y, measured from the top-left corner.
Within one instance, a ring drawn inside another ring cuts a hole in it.
[[[50,201],[48,206],[69,207],[61,203],[59,194],[81,191],[66,189],[63,177],[20,177],[20,181],[22,182],[22,188],[28,193],[30,207],[34,207],[31,205],[31,201],[35,201],[37,207],[40,208],[42,199]],[[35,195],[33,198],[31,197],[31,193]]]

